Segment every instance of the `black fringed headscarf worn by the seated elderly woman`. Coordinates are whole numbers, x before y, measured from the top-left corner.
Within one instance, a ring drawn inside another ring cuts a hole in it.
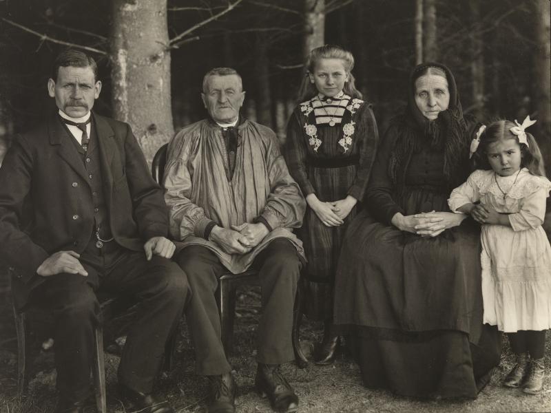
[[[450,92],[448,109],[440,112],[438,118],[432,121],[423,116],[415,103],[415,81],[428,67],[444,70]],[[388,165],[395,184],[403,183],[411,153],[424,146],[423,140],[429,140],[431,147],[435,149],[444,150],[442,172],[448,187],[455,187],[466,179],[470,140],[455,78],[448,67],[441,63],[423,63],[412,70],[408,83],[408,106],[404,115],[400,116],[398,127],[399,138]]]

